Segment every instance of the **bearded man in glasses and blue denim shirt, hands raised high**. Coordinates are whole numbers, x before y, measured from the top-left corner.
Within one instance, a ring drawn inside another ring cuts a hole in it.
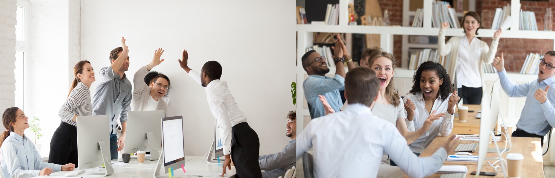
[[[324,95],[331,108],[339,111],[343,106],[340,90],[345,90],[345,65],[347,62],[349,69],[354,68],[355,64],[347,53],[347,48],[343,44],[339,34],[336,35],[337,41],[334,48],[334,59],[330,59],[335,63],[335,77],[326,77],[330,72],[327,67],[326,58],[322,57],[315,50],[310,50],[302,55],[302,68],[305,69],[309,77],[302,83],[305,91],[305,99],[309,104],[310,117],[312,119],[326,115],[324,106],[320,102],[318,95]]]

